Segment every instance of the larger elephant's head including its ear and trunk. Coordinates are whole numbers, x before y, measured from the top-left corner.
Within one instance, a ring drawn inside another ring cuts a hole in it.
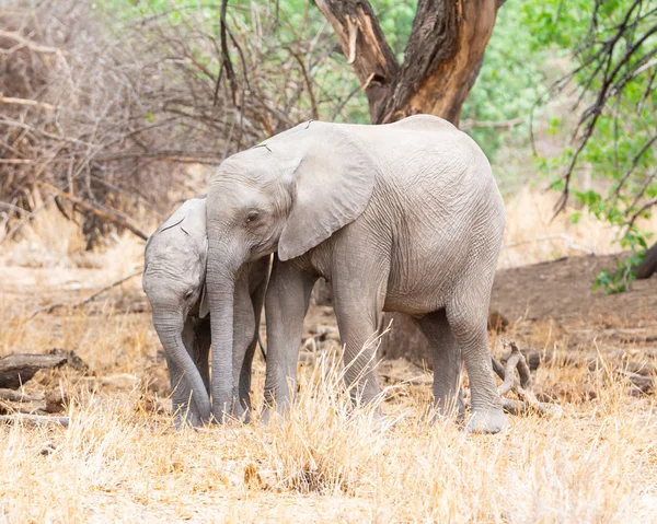
[[[231,409],[232,304],[244,265],[278,252],[303,255],[356,220],[372,194],[376,164],[348,126],[304,123],[226,160],[208,194],[208,295],[212,404]],[[237,328],[237,327],[235,327]]]

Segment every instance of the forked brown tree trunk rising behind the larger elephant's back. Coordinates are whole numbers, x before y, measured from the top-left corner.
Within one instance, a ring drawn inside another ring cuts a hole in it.
[[[459,124],[504,0],[419,0],[400,66],[367,0],[315,0],[370,106],[372,124],[425,113]]]

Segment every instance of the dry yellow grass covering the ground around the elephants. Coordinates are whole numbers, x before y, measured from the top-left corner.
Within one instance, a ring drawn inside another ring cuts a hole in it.
[[[611,234],[596,224],[580,233],[565,221],[537,222],[537,208],[549,214],[548,197],[519,198],[508,207],[505,243],[558,233],[613,251]],[[35,235],[32,251],[21,252],[20,243],[2,253],[0,272],[11,278],[0,279],[0,356],[74,349],[95,376],[65,371],[25,386],[70,392],[71,426],[0,427],[0,523],[657,522],[655,396],[633,396],[604,366],[607,350],[595,339],[568,354],[576,363],[600,354],[599,371],[552,363],[539,369],[535,387],[590,388],[597,397],[564,403],[558,419],[511,417],[499,435],[466,435],[451,420],[428,422],[428,385],[393,386],[381,400],[382,423],[368,411],[350,414],[332,363],[336,348],[300,368],[299,398],[286,420],[267,428],[256,415],[246,427],[174,432],[160,409],[169,403],[147,387],[164,369],[147,313],[123,314],[108,303],[27,322],[38,304],[84,296],[131,271],[142,243],[122,237],[116,248],[89,257],[76,255],[82,245],[66,240],[64,229],[53,231],[51,244]],[[57,253],[51,260],[65,261],[39,264],[43,246]],[[558,241],[509,249],[503,266],[567,254]],[[79,269],[90,266],[103,269]],[[71,279],[79,286],[69,286]],[[135,279],[113,296],[138,296],[138,287]],[[625,319],[609,322],[629,327]],[[523,339],[525,328],[514,329],[507,336]],[[527,340],[562,354],[568,348],[549,321]],[[614,343],[615,351],[634,348]],[[495,337],[492,348],[502,351]],[[263,371],[256,362],[256,408]]]

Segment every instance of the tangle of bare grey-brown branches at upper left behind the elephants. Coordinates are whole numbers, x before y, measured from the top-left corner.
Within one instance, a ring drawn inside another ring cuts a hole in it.
[[[46,184],[83,214],[88,245],[123,229],[145,238],[132,211],[166,214],[172,190],[195,190],[189,164],[218,165],[331,114],[353,89],[315,96],[332,35],[313,31],[309,47],[283,12],[275,23],[222,0],[107,23],[88,2],[30,5],[3,13],[0,31],[2,66],[30,71],[0,75],[0,201],[13,206],[2,209],[4,238],[32,220]],[[273,37],[280,26],[292,35],[285,45]]]

